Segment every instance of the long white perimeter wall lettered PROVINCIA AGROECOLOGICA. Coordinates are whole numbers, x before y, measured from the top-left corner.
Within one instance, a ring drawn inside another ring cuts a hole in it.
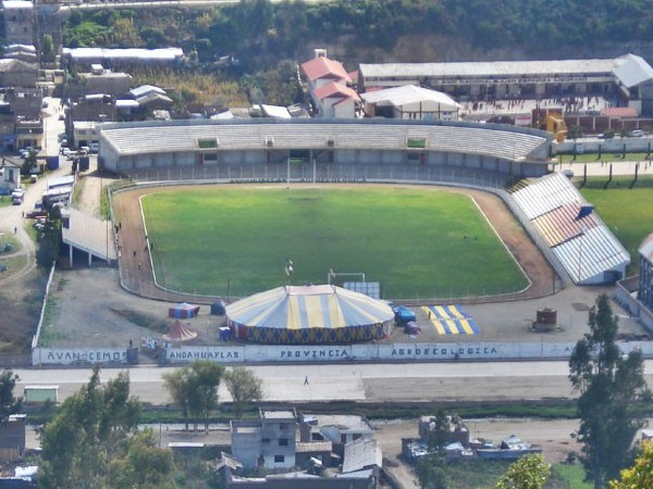
[[[217,363],[304,363],[347,361],[435,361],[435,360],[540,360],[567,359],[575,342],[546,343],[391,343],[349,346],[266,346],[243,344],[225,347],[180,347],[165,350],[165,359],[172,364],[195,360],[212,360]],[[653,342],[630,341],[619,343],[624,353],[641,350],[653,358]],[[115,365],[127,363],[126,349],[111,348],[35,348],[33,365]]]

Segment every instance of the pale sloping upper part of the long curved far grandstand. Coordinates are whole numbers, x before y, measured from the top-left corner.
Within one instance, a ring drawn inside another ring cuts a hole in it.
[[[188,152],[200,140],[217,140],[219,150],[276,149],[406,149],[409,138],[424,149],[485,154],[506,160],[528,159],[547,143],[547,133],[500,124],[392,120],[231,120],[147,121],[103,124],[100,137],[119,156]]]

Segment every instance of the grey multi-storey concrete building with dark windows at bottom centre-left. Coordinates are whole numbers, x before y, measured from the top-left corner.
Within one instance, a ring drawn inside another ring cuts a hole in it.
[[[258,421],[231,422],[232,453],[245,468],[295,466],[297,413],[259,410]]]

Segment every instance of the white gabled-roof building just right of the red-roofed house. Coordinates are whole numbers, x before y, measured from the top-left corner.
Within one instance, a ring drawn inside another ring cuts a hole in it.
[[[415,85],[374,90],[360,96],[367,117],[458,121],[460,104],[446,93]]]

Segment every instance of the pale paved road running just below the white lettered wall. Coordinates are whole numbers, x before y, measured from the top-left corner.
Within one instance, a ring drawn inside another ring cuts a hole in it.
[[[567,362],[401,363],[336,365],[256,365],[268,401],[508,401],[574,397]],[[128,368],[132,393],[144,402],[171,402],[162,377],[172,367]],[[25,385],[58,385],[60,400],[88,381],[89,368],[15,369]],[[102,380],[125,369],[106,368]],[[309,384],[304,385],[308,376]],[[645,362],[653,386],[653,360]],[[230,400],[224,386],[220,399]]]

